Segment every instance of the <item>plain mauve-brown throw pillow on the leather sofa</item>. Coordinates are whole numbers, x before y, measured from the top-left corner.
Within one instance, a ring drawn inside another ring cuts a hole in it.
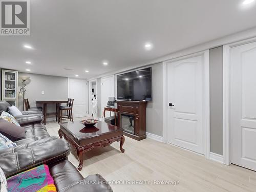
[[[15,141],[25,137],[25,129],[0,118],[0,133]]]

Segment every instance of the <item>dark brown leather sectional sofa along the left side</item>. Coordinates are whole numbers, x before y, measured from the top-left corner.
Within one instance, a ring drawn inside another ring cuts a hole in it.
[[[3,109],[0,101],[0,114]],[[16,117],[26,130],[25,138],[14,141],[17,146],[0,150],[0,167],[6,178],[41,164],[47,164],[57,191],[113,191],[98,174],[83,178],[68,161],[71,152],[64,139],[50,137],[41,114]]]

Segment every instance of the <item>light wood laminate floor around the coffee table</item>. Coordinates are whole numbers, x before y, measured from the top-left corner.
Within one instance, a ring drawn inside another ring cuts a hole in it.
[[[74,120],[80,120],[79,118]],[[51,136],[58,137],[59,124],[48,122]],[[256,191],[256,172],[236,165],[223,165],[181,148],[144,139],[125,137],[124,153],[119,142],[95,148],[84,155],[81,174],[100,174],[107,181],[152,181],[152,184],[111,184],[114,191]],[[74,149],[69,160],[78,166]],[[155,185],[156,181],[179,181],[179,185]]]

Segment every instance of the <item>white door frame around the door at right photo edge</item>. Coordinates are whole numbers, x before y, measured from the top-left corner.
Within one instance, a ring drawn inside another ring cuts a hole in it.
[[[230,142],[230,50],[232,47],[255,42],[256,38],[223,46],[223,164],[231,164]]]

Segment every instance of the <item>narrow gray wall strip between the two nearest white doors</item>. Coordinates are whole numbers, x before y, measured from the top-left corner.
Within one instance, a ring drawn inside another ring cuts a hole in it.
[[[223,155],[223,47],[210,49],[210,152]]]

